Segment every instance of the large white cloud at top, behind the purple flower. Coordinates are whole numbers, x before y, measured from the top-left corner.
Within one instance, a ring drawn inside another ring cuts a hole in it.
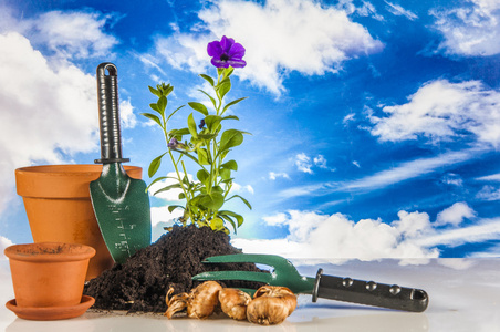
[[[158,53],[176,68],[199,72],[209,64],[207,43],[226,34],[247,49],[248,65],[236,74],[277,95],[284,91],[283,79],[291,71],[335,73],[344,61],[382,49],[344,10],[312,0],[268,0],[263,6],[222,0],[198,15],[209,34],[176,32],[159,38]]]

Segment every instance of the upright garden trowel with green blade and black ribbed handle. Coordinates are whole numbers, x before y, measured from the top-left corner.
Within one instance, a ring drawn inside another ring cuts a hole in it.
[[[91,183],[91,198],[98,227],[111,256],[123,263],[138,249],[150,245],[152,222],[146,184],[131,178],[122,166],[117,69],[97,66],[97,98],[101,128],[101,177]]]

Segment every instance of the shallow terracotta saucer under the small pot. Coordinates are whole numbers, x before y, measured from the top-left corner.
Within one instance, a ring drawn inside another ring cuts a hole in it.
[[[75,318],[85,313],[85,311],[95,303],[92,297],[83,295],[82,301],[76,305],[70,307],[24,307],[20,308],[15,299],[6,303],[7,309],[13,311],[19,318],[34,321],[53,321]]]

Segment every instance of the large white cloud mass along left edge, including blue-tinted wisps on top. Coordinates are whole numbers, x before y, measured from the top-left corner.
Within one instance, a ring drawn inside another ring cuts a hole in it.
[[[111,56],[117,41],[102,32],[110,15],[53,11],[18,20],[9,7],[0,12],[1,212],[14,197],[17,167],[67,164],[98,147],[95,79],[71,60]]]

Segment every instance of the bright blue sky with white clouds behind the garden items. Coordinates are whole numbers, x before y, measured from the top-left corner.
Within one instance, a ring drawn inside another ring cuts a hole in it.
[[[227,35],[247,49],[230,98],[249,97],[232,112],[252,133],[231,152],[253,206],[232,206],[237,247],[498,256],[499,22],[488,0],[0,1],[2,246],[31,241],[17,167],[98,156],[98,63],[118,66],[124,155],[147,168],[165,151],[139,115],[147,85],[171,83],[170,107],[204,101],[206,45]],[[175,203],[152,197],[155,237]]]

